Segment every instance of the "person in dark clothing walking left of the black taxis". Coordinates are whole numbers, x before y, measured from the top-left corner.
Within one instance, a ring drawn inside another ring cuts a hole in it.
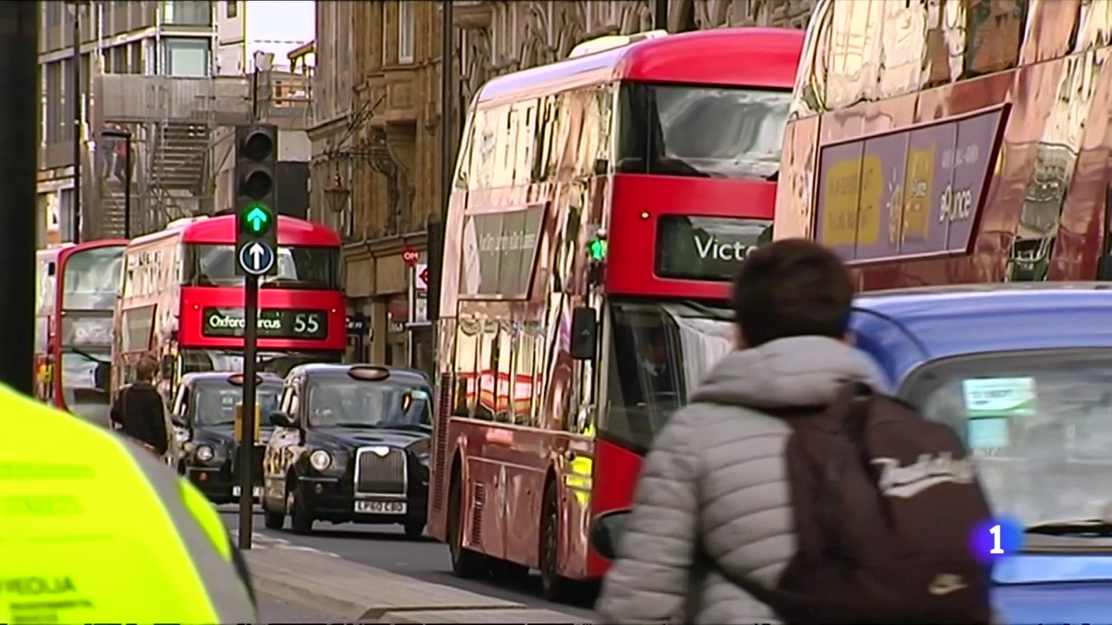
[[[151,454],[165,456],[170,446],[166,428],[166,405],[155,388],[158,363],[143,356],[136,365],[136,383],[123,387],[112,403],[111,418],[120,431]]]

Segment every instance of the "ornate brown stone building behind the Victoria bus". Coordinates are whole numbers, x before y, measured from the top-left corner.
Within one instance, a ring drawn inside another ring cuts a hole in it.
[[[347,236],[349,314],[369,320],[353,357],[431,369],[431,333],[403,251],[426,257],[440,200],[441,2],[317,2],[312,211]],[[669,0],[668,30],[805,28],[814,0]],[[454,132],[494,76],[566,58],[577,43],[653,27],[652,0],[457,0]],[[409,347],[413,346],[411,360]]]

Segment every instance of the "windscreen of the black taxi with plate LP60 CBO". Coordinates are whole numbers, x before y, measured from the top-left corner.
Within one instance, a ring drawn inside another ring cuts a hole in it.
[[[309,384],[312,427],[431,427],[429,389],[424,385],[357,380],[335,376]]]

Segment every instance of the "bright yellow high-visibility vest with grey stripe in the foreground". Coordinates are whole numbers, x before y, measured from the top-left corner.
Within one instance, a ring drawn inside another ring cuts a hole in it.
[[[255,623],[211,504],[118,435],[0,386],[0,623]]]

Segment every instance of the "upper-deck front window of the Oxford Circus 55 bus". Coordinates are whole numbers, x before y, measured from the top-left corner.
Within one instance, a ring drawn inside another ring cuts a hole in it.
[[[278,246],[278,275],[262,278],[261,288],[340,288],[340,250],[330,247]],[[236,247],[231,245],[187,245],[185,284],[200,287],[238,287]]]

